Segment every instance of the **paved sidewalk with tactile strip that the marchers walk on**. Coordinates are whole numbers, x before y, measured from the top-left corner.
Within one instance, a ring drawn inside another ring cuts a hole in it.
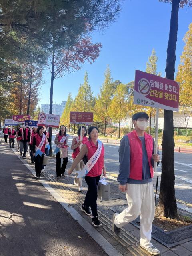
[[[15,152],[16,154],[19,154]],[[27,157],[26,160],[22,160],[30,170],[34,171],[34,165],[30,164],[30,158]],[[67,168],[70,166],[71,162],[68,162]],[[65,178],[56,179],[56,172],[55,172],[55,166],[56,166],[56,158],[50,158],[49,164],[46,167],[46,172],[42,174],[42,178],[40,179],[40,182],[48,184],[51,186],[54,191],[59,194],[65,202],[68,204],[69,212],[73,209],[76,210],[78,214],[82,216],[82,218],[86,221],[84,222],[84,228],[88,232],[90,231],[87,228],[87,224],[91,223],[90,216],[86,216],[81,210],[80,207],[82,205],[82,202],[84,200],[85,194],[86,194],[86,183],[83,180],[83,186],[85,188],[84,192],[80,193],[78,192],[78,188],[74,186],[74,175],[68,176],[66,173]],[[92,230],[92,233],[89,234],[92,235],[92,237],[100,243],[100,240],[98,240],[98,237],[103,237],[102,248],[105,250],[107,249],[108,245],[110,244],[115,250],[119,252],[119,254],[114,255],[124,255],[124,256],[149,256],[147,252],[145,252],[144,249],[140,248],[139,246],[139,237],[140,237],[140,230],[135,227],[132,224],[128,224],[124,226],[122,229],[122,235],[120,238],[116,238],[113,236],[112,232],[112,215],[114,214],[114,211],[112,208],[119,207],[126,205],[126,196],[124,193],[120,192],[118,190],[118,184],[116,182],[116,179],[108,176],[108,182],[110,183],[110,200],[104,201],[104,202],[98,202],[98,214],[100,216],[100,221],[102,222],[102,227],[94,228],[94,231]],[[73,215],[73,213],[72,213]],[[96,236],[96,233],[98,233],[98,237]],[[191,239],[192,240],[192,239]],[[192,255],[192,242],[188,241],[186,243],[180,244],[178,246],[175,246],[174,248],[167,248],[166,246],[160,244],[156,240],[152,239],[152,243],[154,246],[156,246],[162,256],[190,256]],[[93,250],[91,250],[91,253]],[[42,254],[43,255],[43,254]],[[47,255],[47,254],[45,254]],[[64,255],[64,254],[63,254]],[[72,254],[72,255],[80,255],[80,254]],[[84,255],[90,255],[84,254]],[[94,255],[94,254],[92,254]],[[96,255],[102,255],[100,252]],[[108,252],[108,255],[110,252]]]

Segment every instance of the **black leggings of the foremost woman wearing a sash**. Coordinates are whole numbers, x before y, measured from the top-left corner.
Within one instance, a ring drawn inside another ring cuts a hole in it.
[[[97,185],[100,180],[100,175],[96,177],[85,176],[85,181],[88,185],[88,191],[85,196],[83,205],[85,207],[91,206],[92,215],[98,216],[97,214]]]

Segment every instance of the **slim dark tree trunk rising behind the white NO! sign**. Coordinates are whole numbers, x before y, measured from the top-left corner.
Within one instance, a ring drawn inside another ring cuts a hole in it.
[[[53,46],[49,114],[53,114],[53,82],[54,82],[54,64],[55,64],[55,48],[54,48],[54,46]],[[49,127],[49,136],[50,136],[50,140],[52,140],[52,127]],[[49,143],[49,144],[50,144],[49,155],[50,155],[50,156],[52,156],[52,146],[51,146],[51,141],[50,141],[50,143]]]

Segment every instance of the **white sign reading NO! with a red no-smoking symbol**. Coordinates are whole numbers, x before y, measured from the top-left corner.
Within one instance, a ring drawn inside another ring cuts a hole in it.
[[[38,126],[58,128],[59,122],[60,122],[60,116],[58,115],[39,113]]]

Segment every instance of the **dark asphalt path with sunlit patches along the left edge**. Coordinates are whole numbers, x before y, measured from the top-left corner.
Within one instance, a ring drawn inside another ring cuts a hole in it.
[[[8,144],[0,163],[0,256],[107,256]]]

